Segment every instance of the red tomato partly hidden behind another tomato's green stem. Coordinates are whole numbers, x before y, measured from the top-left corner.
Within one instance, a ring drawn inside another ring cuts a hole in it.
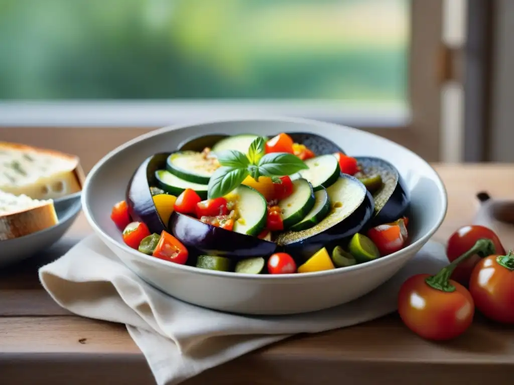
[[[446,255],[448,256],[449,261],[451,262],[463,254],[479,239],[490,239],[492,241],[495,250],[491,254],[505,255],[505,249],[503,248],[500,239],[490,228],[479,225],[470,225],[461,227],[450,236],[448,245],[446,246]],[[483,257],[487,257],[487,255]],[[479,261],[479,255],[474,255],[468,258],[455,268],[451,278],[464,286],[468,286],[469,277],[471,276],[473,267]]]

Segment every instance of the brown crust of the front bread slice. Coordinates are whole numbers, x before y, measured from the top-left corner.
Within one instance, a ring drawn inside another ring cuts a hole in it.
[[[58,222],[53,202],[1,216],[0,241],[36,233]]]

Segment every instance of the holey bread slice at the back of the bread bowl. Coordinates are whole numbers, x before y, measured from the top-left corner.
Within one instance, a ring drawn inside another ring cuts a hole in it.
[[[82,189],[79,159],[59,151],[0,142],[0,190],[56,199]]]

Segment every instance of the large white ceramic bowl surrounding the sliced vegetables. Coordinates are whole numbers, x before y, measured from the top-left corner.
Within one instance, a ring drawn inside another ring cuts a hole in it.
[[[126,246],[109,218],[124,199],[128,180],[147,157],[175,150],[190,137],[208,133],[316,132],[348,155],[375,156],[395,165],[411,194],[409,235],[401,251],[377,260],[330,271],[290,275],[245,275],[169,263]],[[391,278],[442,223],[446,190],[437,173],[415,153],[364,131],[303,119],[259,118],[200,122],[166,127],[108,153],[86,178],[82,205],[95,232],[138,276],[175,298],[211,309],[242,314],[294,314],[326,309],[361,297]]]

